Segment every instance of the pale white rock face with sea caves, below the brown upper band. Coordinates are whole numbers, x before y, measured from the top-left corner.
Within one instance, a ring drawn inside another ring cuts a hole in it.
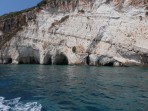
[[[128,0],[127,0],[128,1]],[[97,0],[80,13],[36,13],[0,51],[1,61],[12,63],[147,65],[148,18],[144,8],[125,5],[120,11],[112,3]],[[61,55],[56,59],[57,55]]]

